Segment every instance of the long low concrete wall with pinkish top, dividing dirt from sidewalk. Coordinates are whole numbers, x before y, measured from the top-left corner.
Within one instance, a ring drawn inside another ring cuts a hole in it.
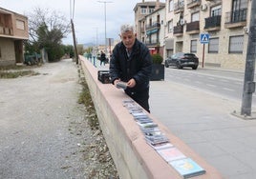
[[[120,178],[182,178],[175,169],[172,169],[160,157],[157,151],[146,144],[144,135],[133,116],[122,106],[122,101],[128,98],[122,89],[117,89],[112,84],[99,82],[97,80],[97,69],[83,56],[79,56],[79,62],[95,104],[100,128],[103,131]],[[152,114],[148,114],[148,116],[159,125],[160,130],[166,134],[174,146],[206,170],[206,174],[194,177],[195,179],[222,178],[216,169],[209,166],[203,158],[160,124],[156,117]]]

